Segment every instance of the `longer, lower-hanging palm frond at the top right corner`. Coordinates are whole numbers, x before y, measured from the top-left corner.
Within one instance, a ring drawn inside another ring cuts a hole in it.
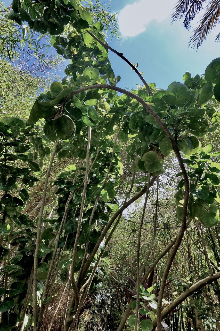
[[[199,22],[199,25],[193,30],[193,34],[189,42],[189,47],[194,49],[196,46],[197,49],[199,49],[209,32],[216,24],[219,24],[219,22],[220,0],[210,0],[206,7],[205,13]],[[218,39],[218,36],[216,39]]]

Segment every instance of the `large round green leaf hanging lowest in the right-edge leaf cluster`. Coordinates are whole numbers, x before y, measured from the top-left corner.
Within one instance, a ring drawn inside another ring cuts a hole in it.
[[[204,226],[211,227],[219,222],[218,207],[214,204],[202,206],[202,210],[198,215],[200,223]]]

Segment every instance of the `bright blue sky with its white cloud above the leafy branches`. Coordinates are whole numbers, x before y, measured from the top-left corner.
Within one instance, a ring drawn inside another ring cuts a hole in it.
[[[11,1],[3,1],[7,6]],[[108,5],[109,1],[102,3]],[[111,0],[111,11],[117,13],[121,40],[115,37],[111,46],[122,52],[132,63],[138,63],[139,71],[148,83],[156,83],[166,89],[173,81],[182,81],[186,71],[193,76],[202,74],[207,65],[220,56],[215,42],[218,27],[212,31],[196,51],[188,48],[191,32],[182,22],[171,24],[170,18],[175,0]],[[198,19],[196,19],[198,21]],[[110,39],[108,40],[110,43]],[[115,75],[121,76],[117,84],[123,88],[136,88],[139,77],[117,55],[109,52]],[[62,73],[59,72],[60,76]]]

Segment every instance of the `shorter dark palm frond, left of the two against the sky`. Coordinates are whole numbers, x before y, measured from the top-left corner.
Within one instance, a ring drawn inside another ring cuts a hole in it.
[[[191,27],[190,22],[195,18],[198,11],[206,0],[179,0],[175,3],[171,22],[180,20],[185,16],[183,26],[187,29]]]

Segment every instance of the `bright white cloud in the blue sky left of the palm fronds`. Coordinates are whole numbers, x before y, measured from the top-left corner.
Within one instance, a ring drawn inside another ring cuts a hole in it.
[[[124,37],[134,37],[146,30],[151,20],[162,22],[171,16],[176,0],[139,0],[125,6],[118,14],[120,31]]]

